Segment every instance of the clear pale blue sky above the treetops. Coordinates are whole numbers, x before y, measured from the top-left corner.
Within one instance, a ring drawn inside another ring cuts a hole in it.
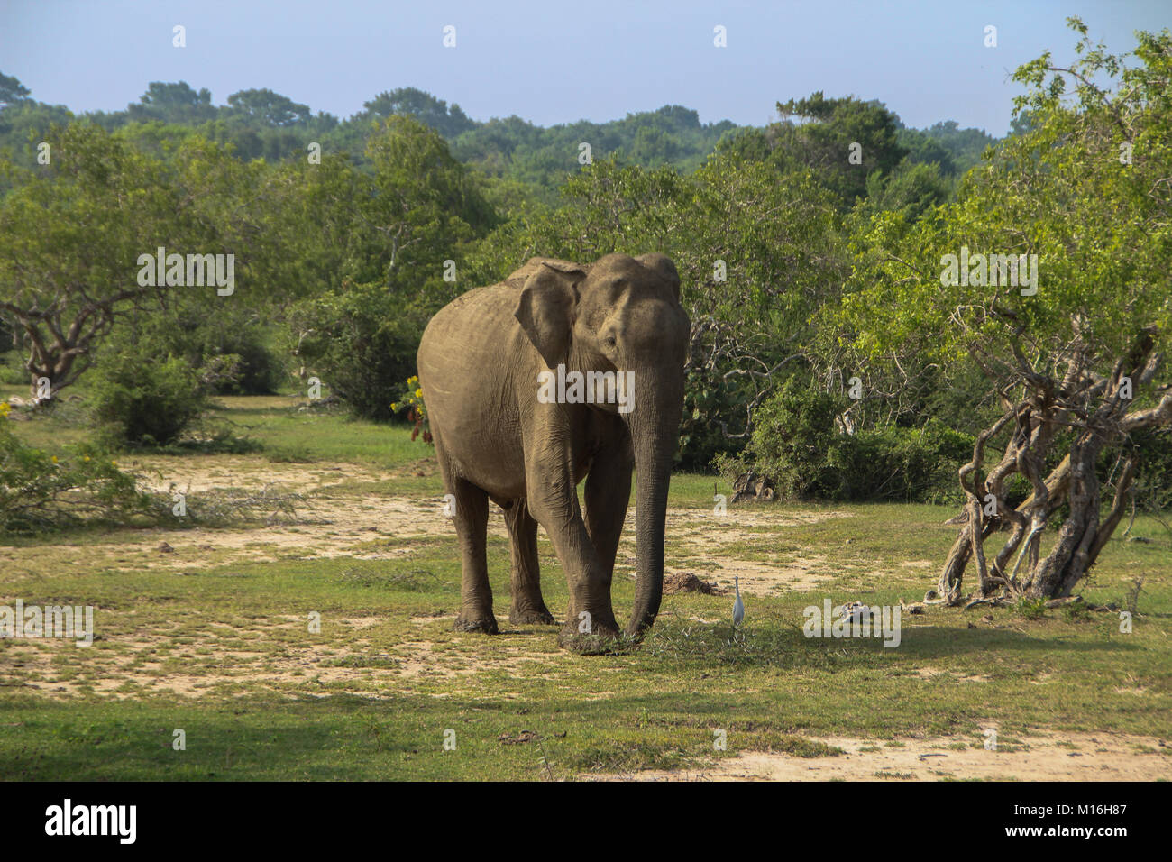
[[[0,0],[0,72],[34,99],[117,110],[150,81],[206,87],[217,104],[267,87],[340,117],[395,87],[476,120],[541,125],[663,104],[703,122],[764,124],[775,103],[824,90],[879,99],[905,123],[956,120],[995,135],[1009,75],[1050,48],[1074,56],[1079,15],[1115,52],[1172,22],[1168,0],[818,2],[396,2],[394,0]],[[186,47],[171,28],[186,28]],[[456,47],[442,45],[456,27]],[[713,46],[713,28],[728,47]],[[997,27],[986,48],[984,27]]]

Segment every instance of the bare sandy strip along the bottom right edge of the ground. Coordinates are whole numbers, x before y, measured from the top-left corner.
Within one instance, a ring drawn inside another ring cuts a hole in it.
[[[987,751],[973,739],[884,741],[817,737],[843,749],[826,758],[745,752],[700,769],[584,775],[611,781],[1154,781],[1172,779],[1170,744],[1112,733],[1035,733]],[[963,746],[963,747],[961,747]]]

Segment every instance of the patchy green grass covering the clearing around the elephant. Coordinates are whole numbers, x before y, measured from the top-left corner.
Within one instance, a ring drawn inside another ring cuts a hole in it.
[[[326,484],[311,500],[430,505],[443,493],[429,448],[402,427],[298,413],[284,396],[223,403],[222,418],[261,450],[132,460],[219,470],[229,484],[246,468],[320,470]],[[81,439],[84,428],[75,430]],[[47,448],[74,440],[54,419],[18,433]],[[335,464],[343,469],[327,469]],[[379,528],[374,515],[375,531],[315,558],[263,524],[0,538],[0,605],[19,597],[97,609],[89,649],[0,639],[0,775],[548,780],[681,768],[743,751],[834,756],[817,737],[875,746],[949,737],[980,748],[990,721],[1006,745],[1036,728],[1170,735],[1172,549],[1154,521],[1133,529],[1149,543],[1112,541],[1083,590],[1090,602],[1123,604],[1143,578],[1130,634],[1112,613],[933,608],[905,616],[900,646],[884,649],[806,638],[803,610],[823,597],[919,599],[955,536],[942,525],[954,510],[752,504],[713,518],[713,484],[673,478],[670,504],[682,511],[669,518],[669,569],[811,558],[825,581],[747,596],[738,638],[730,597],[668,596],[640,649],[590,657],[560,650],[556,627],[507,624],[509,547],[491,531],[498,637],[451,630],[459,565],[450,531]],[[840,516],[811,520],[826,513]],[[687,517],[689,530],[721,539],[718,555],[679,541]],[[313,547],[347,525],[293,529]],[[161,539],[175,551],[156,550]],[[558,617],[566,584],[544,534],[538,552]],[[629,570],[620,564],[615,576],[620,618],[634,599]],[[172,746],[176,729],[184,751]],[[449,731],[455,749],[444,747]]]

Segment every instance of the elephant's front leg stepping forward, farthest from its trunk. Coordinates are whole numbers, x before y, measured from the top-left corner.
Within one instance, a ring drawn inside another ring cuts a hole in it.
[[[577,647],[582,638],[616,638],[619,624],[611,605],[609,569],[602,565],[578,505],[578,494],[566,464],[526,464],[529,509],[553,543],[566,570],[570,608],[561,645]]]

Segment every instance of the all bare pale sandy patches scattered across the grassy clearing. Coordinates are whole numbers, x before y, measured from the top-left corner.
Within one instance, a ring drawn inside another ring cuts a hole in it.
[[[281,493],[302,494],[305,501],[298,504],[294,523],[274,523],[248,530],[158,530],[152,531],[150,541],[145,543],[87,543],[77,547],[76,554],[67,554],[63,564],[86,569],[102,566],[114,571],[150,566],[173,569],[180,573],[184,568],[223,564],[233,559],[264,562],[289,557],[312,559],[338,556],[372,559],[409,556],[413,552],[410,545],[380,548],[380,537],[451,537],[455,549],[455,531],[451,521],[443,514],[443,498],[440,496],[360,496],[341,493],[341,489],[331,491],[332,486],[348,480],[377,481],[389,477],[391,474],[388,473],[345,463],[270,464],[247,456],[218,459],[211,469],[198,463],[171,461],[144,466],[161,470],[162,476],[156,481],[156,487],[162,490],[175,487],[197,493],[214,488],[270,487]],[[736,575],[741,579],[742,592],[747,595],[810,590],[830,577],[830,564],[825,556],[806,551],[799,557],[770,555],[768,562],[748,561],[737,558],[732,545],[752,547],[757,543],[761,534],[755,532],[754,528],[813,523],[837,517],[850,517],[850,514],[818,511],[778,515],[738,511],[735,521],[731,521],[704,509],[673,508],[667,517],[668,531],[675,542],[669,550],[669,558],[675,554],[680,558],[699,557],[706,561],[707,565],[695,572],[706,581],[731,583]],[[632,509],[619,548],[616,576],[633,576],[634,518]],[[504,518],[496,507],[490,507],[489,531],[502,538],[507,537]],[[30,562],[39,552],[38,548],[0,549],[0,565],[16,572],[16,579],[20,579],[22,563]],[[713,568],[713,563],[716,568]],[[913,561],[905,565],[919,570],[929,564]],[[679,571],[689,569],[686,564],[666,568],[668,575]],[[413,623],[420,626],[421,637],[400,645],[393,654],[388,654],[387,666],[352,667],[339,664],[348,657],[361,656],[369,647],[369,642],[362,639],[361,632],[377,624],[376,618],[341,620],[355,632],[354,640],[342,650],[322,650],[306,644],[305,647],[291,646],[274,657],[272,653],[214,647],[209,653],[206,644],[198,653],[195,645],[179,649],[180,658],[190,652],[193,660],[222,661],[223,677],[161,674],[158,663],[142,660],[142,651],[168,638],[164,634],[142,633],[136,636],[131,651],[109,658],[109,674],[94,691],[115,698],[137,697],[143,690],[171,692],[179,697],[202,697],[213,691],[217,679],[265,679],[294,684],[316,680],[322,685],[336,685],[361,678],[368,683],[384,683],[387,691],[407,693],[411,680],[421,678],[473,677],[490,668],[526,673],[534,670],[534,663],[541,664],[541,659],[526,654],[520,645],[509,650],[510,654],[503,661],[498,657],[490,664],[466,653],[438,654],[424,634],[425,627],[437,622],[447,625],[449,619],[450,617],[413,618]],[[304,626],[305,622],[287,617],[268,620],[267,624],[279,627]],[[20,663],[26,671],[36,671],[35,676],[41,677],[41,680],[29,680],[28,685],[59,697],[81,693],[71,680],[55,679],[57,674],[52,667],[52,650],[21,644],[13,645],[7,652],[11,660]],[[175,657],[172,653],[171,658]],[[931,678],[935,673],[939,671],[932,667],[919,671],[919,676],[924,678]],[[984,680],[973,677],[968,681]],[[404,688],[404,685],[408,687]],[[125,690],[120,691],[124,686]],[[366,694],[370,695],[369,688]],[[509,697],[507,693],[498,695]],[[1166,754],[1167,741],[1150,737],[1108,733],[1018,734],[1013,745],[1002,745],[997,751],[984,749],[980,740],[959,738],[902,740],[898,746],[850,738],[815,739],[841,748],[844,753],[837,756],[798,758],[784,753],[748,752],[689,771],[648,771],[581,778],[647,781],[1172,779],[1172,756]],[[974,742],[976,747],[973,747]]]

